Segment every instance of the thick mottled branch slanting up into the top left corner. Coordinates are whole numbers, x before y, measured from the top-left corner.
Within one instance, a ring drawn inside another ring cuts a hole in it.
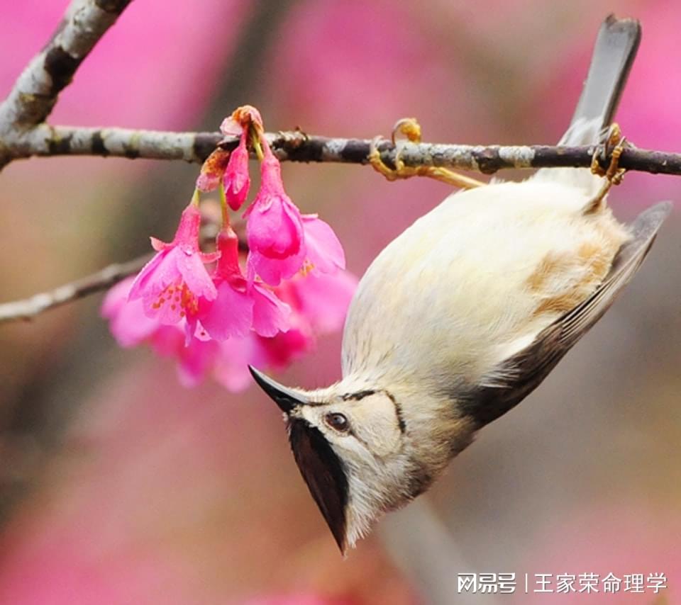
[[[72,0],[62,23],[0,104],[0,166],[15,157],[4,149],[17,131],[43,123],[76,69],[131,0]],[[4,145],[5,144],[5,145]]]

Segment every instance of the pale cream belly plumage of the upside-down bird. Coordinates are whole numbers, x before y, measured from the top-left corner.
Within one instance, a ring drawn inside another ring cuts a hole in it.
[[[360,282],[343,375],[477,382],[588,298],[626,227],[604,204],[585,214],[594,188],[573,182],[494,183],[416,220]]]

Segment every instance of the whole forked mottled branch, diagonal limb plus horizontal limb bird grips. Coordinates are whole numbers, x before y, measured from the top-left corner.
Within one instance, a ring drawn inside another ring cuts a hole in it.
[[[0,168],[14,159],[56,155],[99,155],[127,158],[184,159],[201,162],[218,144],[231,148],[211,132],[157,132],[123,128],[74,128],[45,124],[57,96],[81,62],[131,0],[72,0],[62,24],[43,50],[18,77],[0,103]],[[300,131],[269,135],[282,160],[366,164],[370,141],[309,136]],[[493,174],[506,168],[590,166],[595,147],[526,145],[434,145],[384,141],[382,159],[393,164],[397,149],[406,166],[438,166]],[[603,154],[604,156],[606,154]],[[609,157],[603,157],[604,166]],[[681,154],[629,147],[620,166],[627,170],[681,174]]]

